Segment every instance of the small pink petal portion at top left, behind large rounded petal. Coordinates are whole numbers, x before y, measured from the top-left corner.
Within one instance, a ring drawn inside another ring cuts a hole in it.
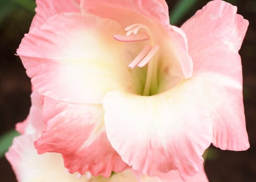
[[[37,0],[36,16],[30,26],[39,28],[50,17],[62,12],[80,12],[80,0]]]

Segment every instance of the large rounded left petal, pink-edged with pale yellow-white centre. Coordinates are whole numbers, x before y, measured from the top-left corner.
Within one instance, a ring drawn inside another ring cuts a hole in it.
[[[113,38],[120,28],[93,15],[59,14],[26,34],[17,53],[41,95],[101,103],[109,90],[133,92],[131,60],[123,56],[123,43]]]

